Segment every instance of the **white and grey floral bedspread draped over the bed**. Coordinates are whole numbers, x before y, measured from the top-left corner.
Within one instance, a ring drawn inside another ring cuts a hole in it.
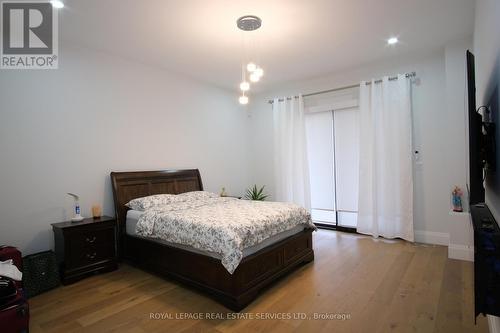
[[[139,218],[136,232],[217,253],[233,274],[243,249],[298,225],[315,229],[309,212],[295,204],[193,198],[147,209]]]

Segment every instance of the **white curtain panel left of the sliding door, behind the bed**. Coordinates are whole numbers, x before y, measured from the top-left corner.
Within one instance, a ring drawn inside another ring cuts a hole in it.
[[[276,199],[311,209],[304,100],[275,99],[274,171]]]

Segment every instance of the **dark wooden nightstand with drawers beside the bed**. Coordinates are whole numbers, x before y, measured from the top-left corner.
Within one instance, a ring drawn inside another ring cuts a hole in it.
[[[103,216],[53,223],[52,230],[63,284],[118,268],[115,218]]]

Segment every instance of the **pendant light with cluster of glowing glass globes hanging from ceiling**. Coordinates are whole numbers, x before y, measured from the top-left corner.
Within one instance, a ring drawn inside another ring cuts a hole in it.
[[[254,15],[245,15],[240,17],[236,21],[236,25],[240,30],[243,31],[243,34],[246,32],[257,30],[262,25],[262,20]],[[243,36],[246,37],[246,36]],[[255,63],[255,59],[251,57],[255,57],[255,49],[251,49],[254,54],[251,56],[249,52],[246,50],[246,45],[243,38],[243,57],[241,63],[241,83],[240,90],[241,96],[239,98],[240,104],[248,104],[248,91],[250,90],[251,83],[257,83],[260,81],[262,76],[264,75],[264,70]],[[249,82],[250,81],[250,82]]]

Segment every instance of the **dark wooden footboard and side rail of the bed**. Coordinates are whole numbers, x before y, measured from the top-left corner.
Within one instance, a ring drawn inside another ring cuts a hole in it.
[[[233,311],[241,311],[273,281],[314,260],[312,230],[245,257],[232,275],[209,256],[128,235],[124,242],[125,260],[206,292]]]

